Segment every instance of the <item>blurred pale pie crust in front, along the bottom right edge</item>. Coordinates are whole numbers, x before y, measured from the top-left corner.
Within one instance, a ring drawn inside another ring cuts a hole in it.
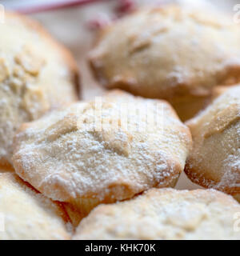
[[[125,202],[96,207],[74,240],[240,239],[240,205],[217,190],[151,189]]]

